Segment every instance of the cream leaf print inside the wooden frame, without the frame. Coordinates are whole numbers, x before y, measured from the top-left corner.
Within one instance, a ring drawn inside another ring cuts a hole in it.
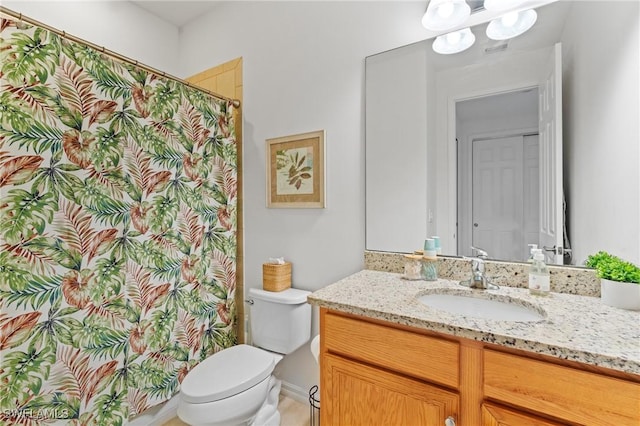
[[[276,193],[313,194],[313,147],[276,151]]]

